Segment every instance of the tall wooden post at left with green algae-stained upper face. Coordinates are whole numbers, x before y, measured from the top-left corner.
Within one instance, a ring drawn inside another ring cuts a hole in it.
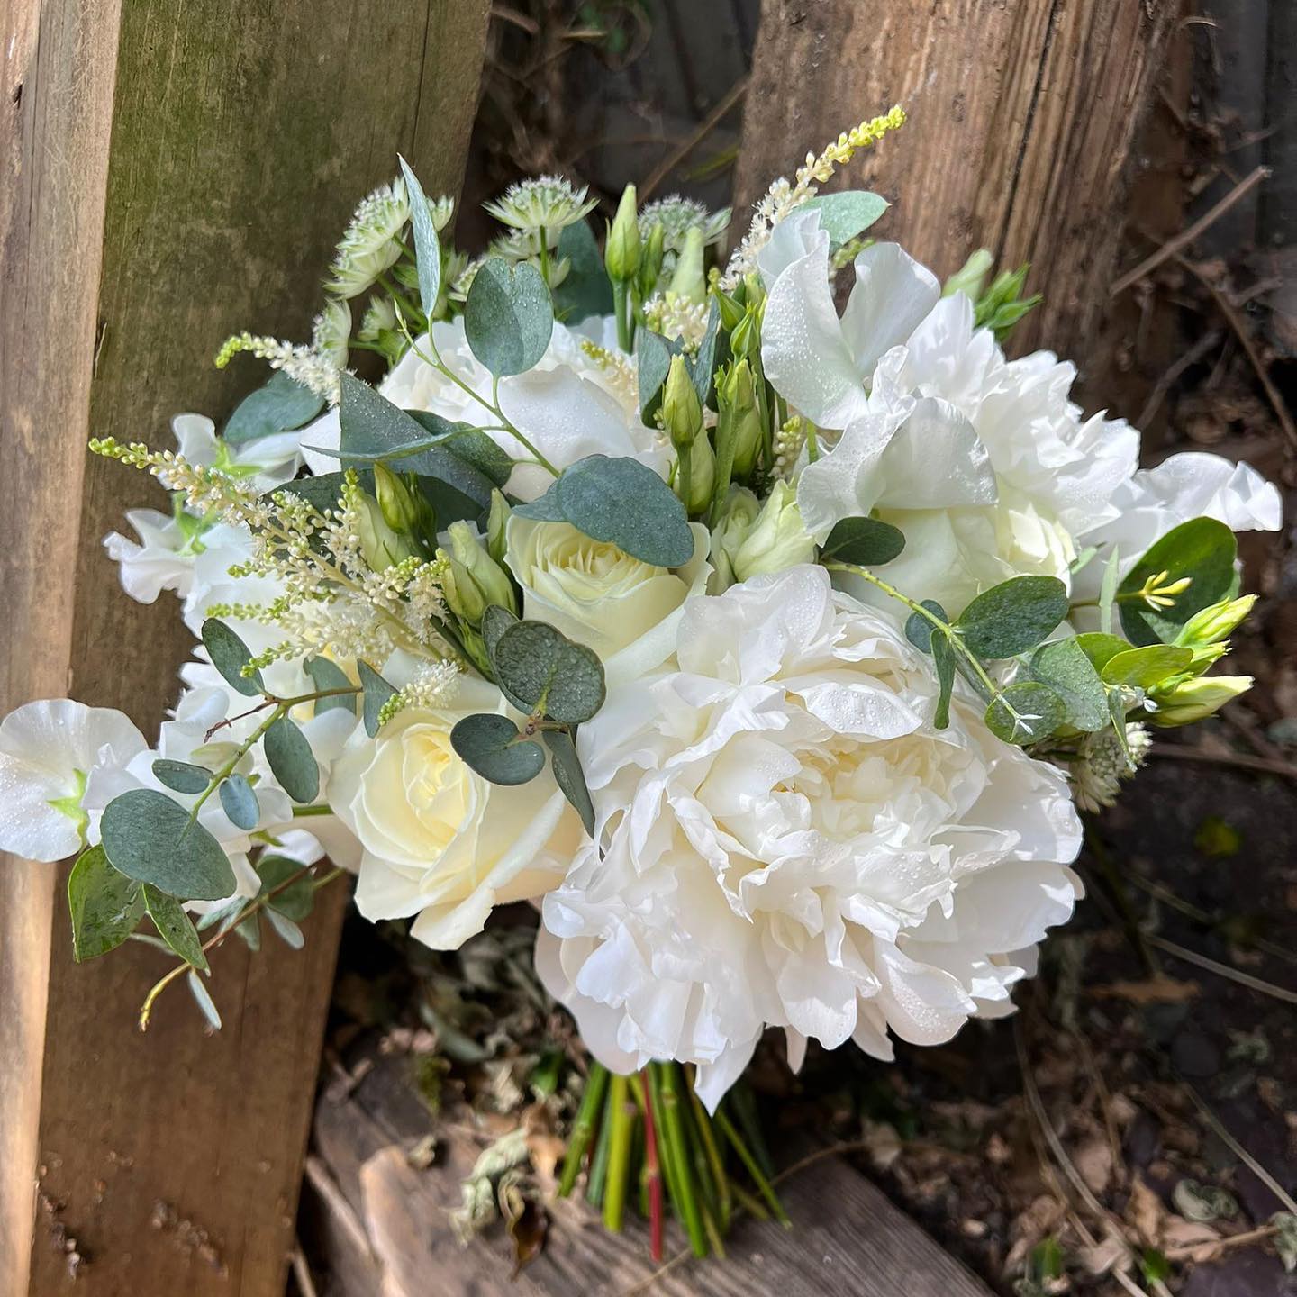
[[[0,516],[5,708],[70,691],[156,730],[191,641],[169,597],[119,591],[101,538],[165,498],[87,462],[86,437],[165,445],[173,412],[228,412],[263,371],[218,374],[217,346],[244,327],[307,332],[331,244],[398,150],[431,192],[458,188],[486,10],[9,0],[0,475],[22,489]],[[220,1035],[179,991],[141,1038],[167,965],[131,946],[75,966],[65,879],[0,874],[0,1293],[29,1291],[29,1246],[31,1292],[65,1291],[65,1230],[89,1297],[274,1297],[345,888],[302,953],[222,948]],[[38,1160],[52,1210],[32,1237]]]

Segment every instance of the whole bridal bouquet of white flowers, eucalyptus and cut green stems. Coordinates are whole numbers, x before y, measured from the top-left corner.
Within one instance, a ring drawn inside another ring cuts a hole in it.
[[[311,344],[220,350],[274,372],[219,432],[92,442],[171,493],[105,543],[200,643],[154,746],[69,700],[4,721],[0,847],[79,852],[79,960],[174,952],[141,1025],[185,977],[219,1026],[206,952],[300,944],[342,872],[438,948],[534,901],[595,1060],[560,1187],[593,1152],[616,1226],[638,1112],[655,1246],[664,1184],[703,1250],[717,1145],[774,1201],[722,1104],[767,1027],[796,1067],[1012,1010],[1080,894],[1078,808],[1248,687],[1210,668],[1279,497],[1139,470],[1071,366],[1005,359],[1025,270],[943,285],[866,236],[875,195],[817,192],[903,121],[808,157],[711,271],[726,213],[628,191],[601,252],[554,178],[470,261],[402,162]]]

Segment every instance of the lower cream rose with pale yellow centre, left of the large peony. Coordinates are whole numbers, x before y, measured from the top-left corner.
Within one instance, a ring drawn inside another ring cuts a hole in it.
[[[335,764],[328,802],[364,848],[355,903],[366,918],[416,914],[411,935],[454,949],[492,907],[562,877],[584,834],[553,773],[501,787],[450,744],[463,716],[505,711],[494,685],[464,678],[454,708],[402,711]]]

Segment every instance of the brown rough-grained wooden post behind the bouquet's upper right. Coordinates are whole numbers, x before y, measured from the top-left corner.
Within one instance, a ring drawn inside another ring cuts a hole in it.
[[[982,246],[1005,266],[1031,262],[1047,297],[1014,348],[1083,348],[1179,12],[1179,0],[763,0],[735,211],[808,149],[901,104],[905,128],[834,183],[894,200],[878,236],[939,275]]]

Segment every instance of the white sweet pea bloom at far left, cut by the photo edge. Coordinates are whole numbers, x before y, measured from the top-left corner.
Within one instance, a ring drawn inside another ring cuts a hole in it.
[[[145,750],[122,712],[69,698],[26,703],[0,721],[0,851],[62,860],[93,825],[87,785]]]

